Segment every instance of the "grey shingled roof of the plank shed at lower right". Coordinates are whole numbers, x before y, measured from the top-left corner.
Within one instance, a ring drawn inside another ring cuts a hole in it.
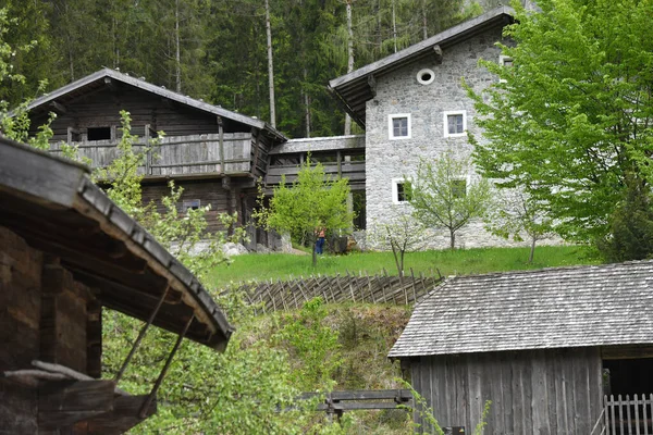
[[[653,261],[447,279],[389,357],[638,344],[653,344]]]

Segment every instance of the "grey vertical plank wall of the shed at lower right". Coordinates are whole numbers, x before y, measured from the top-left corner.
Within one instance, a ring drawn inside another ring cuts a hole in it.
[[[440,424],[469,433],[486,400],[486,434],[589,434],[602,411],[597,348],[421,357],[410,370]]]

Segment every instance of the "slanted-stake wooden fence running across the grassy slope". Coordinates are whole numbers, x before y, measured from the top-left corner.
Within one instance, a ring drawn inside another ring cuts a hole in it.
[[[238,288],[247,295],[249,302],[258,306],[257,313],[301,308],[306,302],[321,296],[328,303],[344,301],[409,304],[418,302],[427,293],[444,278],[436,271],[430,275],[421,272],[416,275],[410,269],[409,276],[369,275],[367,272],[335,276],[308,276],[289,281],[267,281],[241,284]]]

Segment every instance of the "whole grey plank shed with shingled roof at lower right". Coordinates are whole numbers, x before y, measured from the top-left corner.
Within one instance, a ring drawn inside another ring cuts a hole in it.
[[[653,261],[457,276],[390,352],[442,426],[652,434]],[[422,422],[419,414],[416,420]]]

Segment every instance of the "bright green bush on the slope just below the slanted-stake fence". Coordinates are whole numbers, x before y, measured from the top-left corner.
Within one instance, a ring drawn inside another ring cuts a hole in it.
[[[280,333],[295,361],[294,384],[305,391],[331,390],[342,364],[337,332],[324,324],[326,314],[322,298],[315,298],[304,304],[298,318],[286,318]]]

